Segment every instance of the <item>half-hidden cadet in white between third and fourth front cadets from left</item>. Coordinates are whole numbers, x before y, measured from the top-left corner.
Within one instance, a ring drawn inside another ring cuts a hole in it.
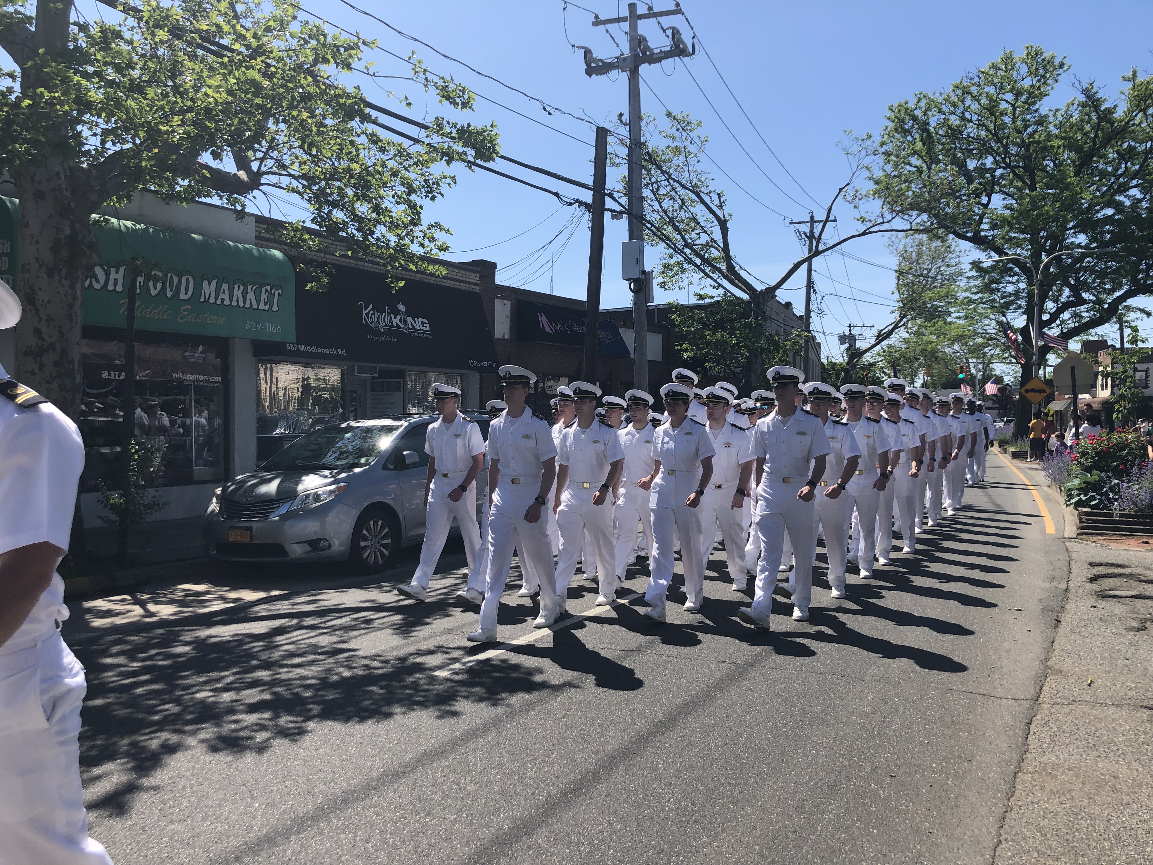
[[[649,487],[653,486],[653,427],[649,424],[649,407],[653,397],[646,391],[631,390],[625,393],[631,423],[617,431],[617,439],[625,454],[617,496],[617,578],[624,580],[638,552],[636,525],[640,524],[645,555],[653,561],[653,510],[649,507]],[[655,415],[654,415],[655,416]]]

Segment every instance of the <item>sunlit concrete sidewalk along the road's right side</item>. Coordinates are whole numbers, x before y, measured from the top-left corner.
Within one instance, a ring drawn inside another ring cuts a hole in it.
[[[1062,507],[1039,466],[1013,465]],[[1065,607],[995,863],[1148,865],[1153,548],[1064,542]]]

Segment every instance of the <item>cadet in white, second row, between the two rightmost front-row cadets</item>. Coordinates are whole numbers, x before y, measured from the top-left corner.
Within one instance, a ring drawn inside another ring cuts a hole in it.
[[[734,592],[748,585],[745,565],[745,499],[753,477],[752,436],[747,429],[729,422],[732,394],[717,385],[704,389],[708,436],[716,451],[713,479],[701,498],[701,572],[708,566],[714,533],[719,527],[724,540],[729,578]]]

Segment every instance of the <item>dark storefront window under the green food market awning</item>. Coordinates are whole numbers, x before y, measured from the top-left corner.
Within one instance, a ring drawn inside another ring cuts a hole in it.
[[[88,329],[85,329],[88,332]],[[225,475],[223,358],[226,340],[146,339],[136,344],[134,436],[157,452],[152,487],[221,480]],[[81,490],[120,483],[125,421],[125,344],[81,340],[84,438]]]

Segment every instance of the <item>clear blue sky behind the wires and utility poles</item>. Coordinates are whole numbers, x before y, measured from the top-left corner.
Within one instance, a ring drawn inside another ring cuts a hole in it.
[[[604,32],[608,28],[591,27],[591,15],[572,5],[564,13],[563,0],[504,0],[499,3],[356,0],[356,5],[478,72],[578,116],[609,122],[626,110],[625,80],[587,77],[582,55],[570,44],[588,45],[598,57],[611,57],[617,48]],[[525,96],[438,57],[339,0],[306,0],[303,6],[309,13],[377,38],[383,48],[402,57],[415,50],[434,72],[451,74],[477,93],[575,136],[580,141],[491,101],[477,100],[475,119],[497,122],[506,155],[567,176],[589,179],[590,123],[559,113],[550,116]],[[623,14],[626,8],[616,0],[585,0],[581,6],[602,17]],[[658,8],[671,6],[669,0]],[[754,202],[724,176],[717,175],[717,186],[726,190],[734,215],[737,256],[745,266],[769,281],[781,276],[800,249],[793,230],[773,210],[791,219],[802,219],[808,209],[815,206],[808,194],[827,202],[849,173],[842,152],[844,130],[879,131],[890,104],[907,99],[919,90],[948,88],[965,72],[984,66],[1002,51],[1019,51],[1028,43],[1068,58],[1073,75],[1097,80],[1110,95],[1120,90],[1120,76],[1130,68],[1136,66],[1147,74],[1153,67],[1153,3],[1148,0],[1093,3],[834,0],[820,5],[684,0],[683,7],[779,163],[741,115],[701,52],[685,61],[685,66],[692,69],[706,96],[684,66],[670,62],[663,68],[646,67],[643,76],[649,86],[642,86],[642,105],[648,112],[660,113],[655,92],[670,108],[687,111],[703,120],[704,131],[710,137],[709,151],[716,163],[768,205]],[[691,36],[684,18],[676,16],[663,21],[680,25],[686,38]],[[654,47],[666,44],[654,22],[642,22],[641,27]],[[619,29],[613,35],[625,44]],[[382,52],[371,53],[378,72],[406,74],[404,62]],[[374,82],[363,77],[359,81],[370,98],[383,97]],[[407,113],[417,118],[446,113],[415,85],[392,83],[414,99],[415,106]],[[1058,96],[1064,98],[1071,92]],[[707,99],[752,159],[725,130]],[[782,164],[797,182],[789,178]],[[499,167],[508,168],[507,164]],[[492,175],[467,170],[455,173],[459,185],[427,211],[428,218],[443,221],[453,232],[453,253],[446,257],[457,261],[489,258],[503,268],[498,278],[504,283],[583,296],[588,266],[588,232],[583,225],[576,226],[560,251],[568,234],[563,228],[572,213],[571,208],[559,206],[549,195]],[[576,191],[551,180],[517,173],[562,191]],[[784,193],[775,188],[774,181]],[[836,212],[841,216],[841,225],[847,228],[852,218],[849,209],[842,205]],[[558,233],[557,241],[543,255],[523,261]],[[520,236],[514,238],[518,234]],[[627,289],[619,279],[619,243],[625,236],[624,221],[608,221],[604,307],[628,303]],[[854,241],[846,249],[869,261],[891,263],[882,239]],[[823,315],[814,326],[826,332],[822,343],[827,352],[830,348],[838,351],[836,334],[847,323],[886,321],[886,299],[892,288],[891,271],[834,255],[817,266],[816,277],[819,292],[827,296],[820,302]],[[781,294],[782,300],[792,300],[800,307],[802,285],[804,271],[790,280],[790,287]],[[829,296],[834,294],[843,296]],[[671,296],[676,295],[657,289],[658,299]],[[684,299],[683,293],[679,299]]]

